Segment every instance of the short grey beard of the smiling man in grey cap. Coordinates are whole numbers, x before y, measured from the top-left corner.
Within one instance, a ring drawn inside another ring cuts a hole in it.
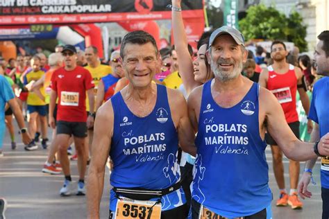
[[[233,71],[221,71],[219,69],[220,64],[233,64],[234,65]],[[242,61],[239,63],[235,63],[233,61],[225,60],[222,58],[217,60],[217,62],[213,62],[211,60],[210,66],[211,66],[212,71],[214,72],[214,78],[218,78],[222,82],[227,82],[228,80],[233,80],[233,79],[237,78],[239,76],[239,74],[241,74],[242,69],[243,69]]]

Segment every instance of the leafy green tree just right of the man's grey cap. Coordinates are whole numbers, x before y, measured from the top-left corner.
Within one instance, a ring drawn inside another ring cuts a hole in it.
[[[263,4],[251,6],[247,15],[239,21],[239,27],[246,38],[262,40],[287,40],[294,42],[301,52],[307,49],[305,41],[306,26],[298,12],[292,12],[289,17]]]

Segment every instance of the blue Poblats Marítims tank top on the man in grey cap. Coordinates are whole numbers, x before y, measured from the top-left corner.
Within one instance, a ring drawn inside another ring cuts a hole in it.
[[[258,121],[259,85],[230,108],[203,85],[192,198],[227,218],[249,216],[271,204],[266,143]]]

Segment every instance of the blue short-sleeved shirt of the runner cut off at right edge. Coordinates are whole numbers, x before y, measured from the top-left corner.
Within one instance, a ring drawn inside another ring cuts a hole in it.
[[[329,132],[329,78],[318,80],[313,87],[308,118],[319,124],[320,138]],[[329,189],[329,157],[321,157],[321,186]]]

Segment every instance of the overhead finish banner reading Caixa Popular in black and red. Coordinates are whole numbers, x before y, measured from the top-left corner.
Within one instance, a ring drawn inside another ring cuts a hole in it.
[[[170,0],[0,0],[0,25],[171,19]],[[183,0],[185,18],[203,17],[203,0]]]

